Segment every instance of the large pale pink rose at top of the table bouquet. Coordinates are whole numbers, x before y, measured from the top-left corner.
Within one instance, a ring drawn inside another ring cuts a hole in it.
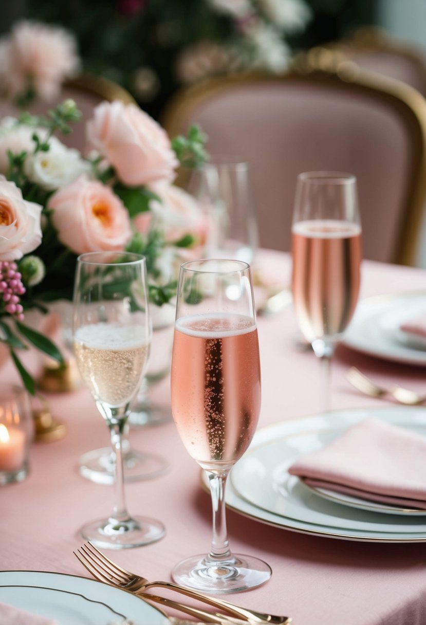
[[[87,123],[87,136],[124,184],[174,179],[178,162],[167,133],[135,104],[99,104]]]

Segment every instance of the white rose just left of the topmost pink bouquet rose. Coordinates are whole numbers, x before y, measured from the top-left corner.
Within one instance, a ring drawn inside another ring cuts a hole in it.
[[[86,174],[90,176],[91,165],[81,158],[79,151],[66,148],[52,137],[47,152],[38,151],[24,163],[24,171],[32,183],[39,184],[47,191],[62,189]]]

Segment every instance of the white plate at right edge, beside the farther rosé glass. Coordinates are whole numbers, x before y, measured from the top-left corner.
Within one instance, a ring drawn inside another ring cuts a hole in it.
[[[426,292],[368,297],[358,302],[342,337],[347,347],[386,360],[426,366],[426,347],[400,325],[426,313]]]

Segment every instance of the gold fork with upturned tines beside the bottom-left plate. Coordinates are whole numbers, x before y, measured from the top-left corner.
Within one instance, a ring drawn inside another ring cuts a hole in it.
[[[121,566],[118,566],[118,564],[110,560],[109,557],[105,556],[91,542],[86,542],[80,549],[74,551],[74,555],[79,559],[82,565],[86,567],[87,571],[96,577],[96,579],[106,582],[107,584],[111,584],[111,586],[117,586],[126,589],[127,591],[134,592],[138,595],[141,595],[149,588],[166,588],[168,590],[184,594],[192,599],[197,599],[198,601],[207,603],[210,606],[227,612],[227,614],[232,617],[242,618],[245,619],[246,622],[248,621],[253,624],[272,623],[273,625],[289,625],[291,622],[291,619],[287,616],[274,616],[274,614],[249,610],[246,607],[237,606],[228,601],[224,601],[223,599],[214,599],[213,597],[206,596],[189,588],[177,586],[177,584],[172,584],[172,582],[149,582],[146,577],[141,577],[130,571],[126,571],[126,569],[123,569]],[[146,592],[144,593],[144,598],[150,599],[151,597],[153,597],[153,595]],[[158,598],[160,601],[163,599],[163,597]],[[196,615],[194,614],[193,616]],[[216,616],[223,617],[224,615],[216,614]]]

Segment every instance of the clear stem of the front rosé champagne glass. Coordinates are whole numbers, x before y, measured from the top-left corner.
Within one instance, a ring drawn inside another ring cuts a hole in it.
[[[231,557],[225,512],[225,486],[228,473],[229,469],[226,469],[220,474],[209,473],[210,492],[212,496],[213,537],[211,551],[208,557],[215,561],[229,560]]]

